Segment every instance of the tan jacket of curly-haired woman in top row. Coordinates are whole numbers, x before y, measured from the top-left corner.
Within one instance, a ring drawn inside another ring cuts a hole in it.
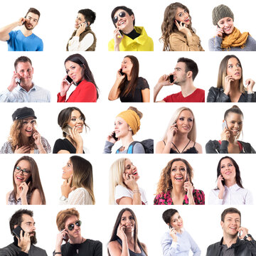
[[[177,33],[169,36],[169,43],[175,51],[200,51],[200,39],[192,33],[192,36],[184,38]]]

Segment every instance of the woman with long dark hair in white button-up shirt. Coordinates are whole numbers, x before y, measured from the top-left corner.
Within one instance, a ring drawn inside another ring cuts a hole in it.
[[[217,188],[210,191],[209,204],[253,204],[252,193],[243,188],[239,166],[230,156],[218,162]]]

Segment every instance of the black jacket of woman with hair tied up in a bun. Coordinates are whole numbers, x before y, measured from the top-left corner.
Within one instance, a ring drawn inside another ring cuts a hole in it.
[[[242,151],[240,154],[255,154],[256,151],[253,149],[250,143],[247,142],[240,142],[242,144]],[[207,154],[228,154],[228,141],[220,142],[214,140],[209,140],[206,144],[206,153]]]

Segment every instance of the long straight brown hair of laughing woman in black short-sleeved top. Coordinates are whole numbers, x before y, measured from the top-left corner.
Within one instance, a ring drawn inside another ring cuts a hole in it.
[[[137,87],[137,80],[139,78],[139,60],[133,55],[127,55],[124,58],[129,58],[132,62],[132,78],[128,81],[127,75],[125,75],[125,78],[122,80],[118,87],[120,92],[119,97],[125,97],[129,94],[129,92],[132,92],[132,96],[134,96],[134,92]]]

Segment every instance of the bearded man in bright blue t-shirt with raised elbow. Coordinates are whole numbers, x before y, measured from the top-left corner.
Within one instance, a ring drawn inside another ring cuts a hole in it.
[[[25,18],[19,18],[18,21],[0,29],[0,40],[7,42],[9,51],[42,51],[42,39],[32,33],[39,18],[40,12],[30,8]],[[21,30],[12,31],[16,26],[22,26]]]

